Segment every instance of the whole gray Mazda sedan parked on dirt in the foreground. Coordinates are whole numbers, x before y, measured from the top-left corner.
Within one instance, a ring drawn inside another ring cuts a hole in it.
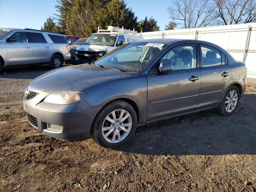
[[[136,127],[216,108],[231,115],[246,86],[246,66],[199,40],[124,44],[91,64],[52,70],[24,94],[28,122],[63,140],[128,142]]]

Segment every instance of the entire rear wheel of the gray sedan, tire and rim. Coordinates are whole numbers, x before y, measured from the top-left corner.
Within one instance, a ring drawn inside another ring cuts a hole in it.
[[[224,116],[231,115],[235,112],[240,100],[239,90],[236,86],[231,86],[223,97],[218,107],[218,112]]]

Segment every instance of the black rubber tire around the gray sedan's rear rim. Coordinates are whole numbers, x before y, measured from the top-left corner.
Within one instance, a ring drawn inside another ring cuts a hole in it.
[[[236,106],[235,108],[231,111],[231,112],[228,112],[227,109],[226,109],[226,98],[228,96],[228,94],[231,92],[231,91],[235,91],[237,93],[237,102],[236,102]],[[239,104],[239,100],[240,100],[240,92],[238,90],[238,88],[236,86],[231,86],[228,91],[226,92],[226,94],[224,95],[223,99],[222,99],[222,102],[221,104],[218,106],[217,108],[217,112],[219,114],[222,114],[224,116],[229,116],[231,115],[232,113],[234,113],[236,111],[236,108]]]

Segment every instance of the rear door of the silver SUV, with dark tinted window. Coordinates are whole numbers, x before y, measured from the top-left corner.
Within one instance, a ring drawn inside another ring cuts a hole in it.
[[[46,39],[39,32],[27,32],[28,41],[31,42],[33,47],[34,63],[49,62],[49,57],[52,55],[52,49],[47,44]]]

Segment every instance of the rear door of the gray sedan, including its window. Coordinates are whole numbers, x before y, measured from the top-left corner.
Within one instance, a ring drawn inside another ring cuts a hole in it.
[[[227,57],[214,47],[200,44],[202,84],[198,107],[214,106],[224,94],[231,76]]]

